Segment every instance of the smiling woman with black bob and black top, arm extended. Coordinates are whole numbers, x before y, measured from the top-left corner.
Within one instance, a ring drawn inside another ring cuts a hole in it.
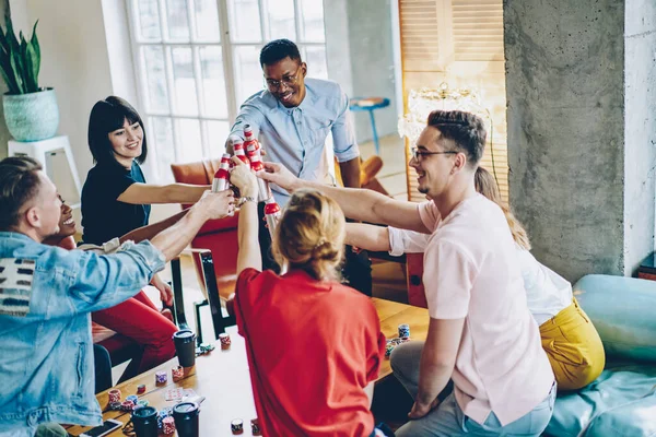
[[[82,189],[84,243],[102,245],[148,224],[151,204],[194,203],[209,186],[147,184],[139,164],[148,142],[139,113],[125,99],[97,102],[89,118],[95,166]]]

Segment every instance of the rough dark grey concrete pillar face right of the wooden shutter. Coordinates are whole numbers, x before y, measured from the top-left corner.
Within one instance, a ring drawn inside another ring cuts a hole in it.
[[[504,38],[509,198],[535,256],[571,281],[623,274],[624,3],[504,0]]]

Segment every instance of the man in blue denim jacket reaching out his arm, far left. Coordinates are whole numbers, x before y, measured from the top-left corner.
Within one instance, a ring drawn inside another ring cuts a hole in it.
[[[36,161],[0,162],[0,435],[32,436],[48,422],[99,425],[91,311],[133,296],[207,220],[234,208],[230,191],[208,191],[151,241],[99,256],[42,244],[58,231],[60,204]]]

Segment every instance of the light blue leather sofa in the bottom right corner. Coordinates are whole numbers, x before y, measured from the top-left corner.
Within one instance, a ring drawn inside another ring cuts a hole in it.
[[[549,436],[656,435],[656,282],[590,274],[574,285],[606,350],[606,369],[558,395]]]

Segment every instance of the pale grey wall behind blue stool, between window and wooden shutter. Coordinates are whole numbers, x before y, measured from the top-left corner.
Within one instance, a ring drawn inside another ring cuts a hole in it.
[[[390,99],[390,106],[374,111],[378,137],[397,132],[393,25],[398,23],[393,23],[390,1],[324,1],[329,78],[350,97]],[[358,141],[370,141],[368,113],[355,113],[354,119]]]

